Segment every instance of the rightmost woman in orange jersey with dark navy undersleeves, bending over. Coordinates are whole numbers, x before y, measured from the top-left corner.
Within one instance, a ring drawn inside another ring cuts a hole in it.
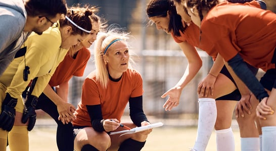
[[[218,0],[187,0],[183,5],[201,29],[200,48],[211,56],[219,53],[259,100],[256,113],[262,126],[262,150],[274,150],[276,14]],[[265,71],[260,82],[245,62]],[[254,96],[250,102],[256,102]]]

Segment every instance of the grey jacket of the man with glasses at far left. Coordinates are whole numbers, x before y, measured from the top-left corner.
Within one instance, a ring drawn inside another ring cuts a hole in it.
[[[22,0],[0,1],[0,76],[23,43],[18,39],[22,35],[26,19],[27,12]],[[16,46],[17,41],[19,44]]]

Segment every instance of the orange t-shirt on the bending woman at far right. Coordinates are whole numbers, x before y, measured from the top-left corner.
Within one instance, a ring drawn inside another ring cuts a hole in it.
[[[276,14],[242,4],[221,3],[201,23],[199,48],[209,55],[217,52],[225,61],[238,53],[249,64],[264,71],[271,63],[276,45]]]

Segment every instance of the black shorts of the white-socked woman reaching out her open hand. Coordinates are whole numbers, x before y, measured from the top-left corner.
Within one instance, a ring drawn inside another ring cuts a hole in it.
[[[246,64],[247,64],[248,68],[252,71],[252,73],[253,73],[254,75],[256,75],[257,72],[258,72],[258,68],[255,68],[255,67],[253,67],[252,65],[250,65],[250,64],[248,64],[248,63],[246,63]],[[222,67],[222,69],[220,70],[220,73],[224,74],[227,78],[229,78],[229,79],[236,85],[236,83],[235,83],[233,77],[231,76],[231,74],[229,73],[229,71],[227,70],[227,68],[226,68],[225,65],[224,65],[224,66]],[[237,85],[236,85],[236,87],[237,87]],[[222,97],[219,97],[219,98],[217,98],[216,100],[234,100],[234,101],[240,101],[240,100],[241,100],[241,97],[242,97],[242,96],[241,96],[240,91],[239,91],[238,89],[236,89],[236,90],[233,91],[232,93],[229,93],[229,94],[227,94],[227,95],[224,95],[224,96],[222,96]]]

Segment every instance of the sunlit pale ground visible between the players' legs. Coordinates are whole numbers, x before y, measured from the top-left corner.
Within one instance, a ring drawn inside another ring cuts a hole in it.
[[[236,149],[240,150],[240,134],[237,128],[234,128]],[[154,128],[149,135],[143,151],[167,151],[167,150],[189,150],[194,145],[196,139],[196,127],[163,126]],[[30,151],[55,151],[56,145],[56,127],[35,127],[29,132],[29,150]],[[208,143],[206,151],[216,150],[215,133],[213,132]],[[10,151],[8,148],[7,151]]]

